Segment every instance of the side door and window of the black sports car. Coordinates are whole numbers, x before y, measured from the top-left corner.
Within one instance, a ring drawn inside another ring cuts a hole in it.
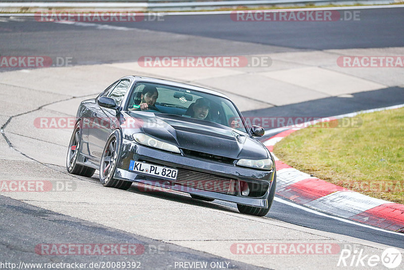
[[[116,86],[109,91],[106,96],[115,100],[120,106],[130,85],[129,79],[120,80]],[[96,159],[100,159],[108,137],[116,128],[118,123],[116,118],[117,111],[100,107],[95,104],[93,111],[93,126],[89,129],[88,142],[90,155]]]

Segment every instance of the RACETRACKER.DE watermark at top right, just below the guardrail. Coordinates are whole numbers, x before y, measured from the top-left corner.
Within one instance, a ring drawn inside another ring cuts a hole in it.
[[[230,18],[235,22],[335,22],[359,21],[360,13],[338,10],[248,10],[232,11]]]

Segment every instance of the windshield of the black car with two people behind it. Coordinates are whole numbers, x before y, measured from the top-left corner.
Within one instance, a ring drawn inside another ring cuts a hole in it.
[[[136,83],[125,110],[175,114],[211,121],[247,132],[241,116],[229,100],[164,84]]]

